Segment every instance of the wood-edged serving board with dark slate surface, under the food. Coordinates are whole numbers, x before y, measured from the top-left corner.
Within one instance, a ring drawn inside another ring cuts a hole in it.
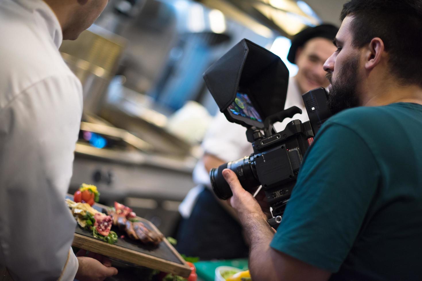
[[[68,195],[66,198],[73,200],[73,196]],[[95,203],[92,206],[98,211],[105,212],[107,206]],[[137,217],[148,229],[160,233],[160,230],[155,227],[150,221]],[[182,277],[188,277],[190,274],[190,267],[174,247],[168,242],[166,238],[157,246],[145,245],[141,241],[135,241],[127,238],[125,232],[120,231],[117,227],[112,227],[119,236],[118,241],[112,245],[102,240],[96,239],[88,230],[81,229],[76,226],[75,236],[73,238],[72,246],[89,250],[107,257],[122,260],[124,262],[132,263],[147,268],[157,269],[168,273],[173,273]],[[120,238],[125,235],[125,238]]]

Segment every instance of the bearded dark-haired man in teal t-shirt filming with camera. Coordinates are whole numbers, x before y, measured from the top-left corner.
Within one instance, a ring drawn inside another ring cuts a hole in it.
[[[252,280],[422,276],[422,1],[352,0],[341,19],[324,64],[339,113],[309,148],[277,233],[223,171]]]

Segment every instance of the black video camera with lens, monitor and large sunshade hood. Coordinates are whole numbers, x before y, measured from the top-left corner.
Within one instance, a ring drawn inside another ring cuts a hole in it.
[[[303,155],[322,123],[330,118],[327,91],[317,88],[303,94],[309,121],[293,120],[283,131],[273,124],[302,113],[298,107],[284,108],[289,71],[279,56],[243,39],[203,75],[211,95],[227,120],[247,128],[246,137],[254,152],[212,169],[211,185],[216,196],[228,199],[233,193],[222,176],[234,171],[245,190],[262,185],[277,227],[295,185]],[[240,137],[240,136],[239,136]],[[218,145],[218,144],[216,144]]]

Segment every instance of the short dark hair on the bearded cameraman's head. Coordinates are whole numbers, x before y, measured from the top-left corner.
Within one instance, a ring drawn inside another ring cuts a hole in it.
[[[384,42],[390,71],[400,83],[422,86],[422,0],[351,0],[340,19],[353,16],[352,45]]]

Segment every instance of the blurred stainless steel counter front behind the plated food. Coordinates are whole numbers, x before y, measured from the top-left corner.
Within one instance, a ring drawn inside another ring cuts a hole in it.
[[[118,157],[127,160],[125,153],[120,154]],[[104,201],[129,196],[162,197],[181,201],[194,187],[191,169],[180,165],[181,162],[172,163],[171,160],[166,161],[158,157],[154,159],[140,154],[133,154],[131,160],[137,165],[76,155],[70,189],[76,190],[81,183],[86,182],[97,185]],[[168,169],[176,168],[177,163],[180,165],[178,169]]]

